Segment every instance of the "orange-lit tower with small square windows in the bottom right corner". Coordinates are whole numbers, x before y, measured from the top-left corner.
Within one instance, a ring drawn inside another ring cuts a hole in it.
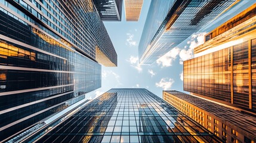
[[[178,91],[163,98],[226,142],[256,142],[256,117]]]

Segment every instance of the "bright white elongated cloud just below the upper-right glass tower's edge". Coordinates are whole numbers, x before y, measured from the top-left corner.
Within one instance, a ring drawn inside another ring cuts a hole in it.
[[[172,66],[172,61],[175,60],[179,52],[180,52],[180,49],[175,47],[171,49],[171,51],[163,55],[161,58],[156,60],[156,63],[158,63],[158,65],[162,65],[162,67]]]

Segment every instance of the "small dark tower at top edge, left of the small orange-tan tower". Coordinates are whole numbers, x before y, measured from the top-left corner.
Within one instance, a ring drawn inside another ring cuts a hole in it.
[[[123,0],[93,0],[103,21],[121,21]]]

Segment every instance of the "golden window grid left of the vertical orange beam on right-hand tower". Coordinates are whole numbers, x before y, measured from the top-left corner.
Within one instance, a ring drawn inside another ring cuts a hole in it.
[[[231,102],[231,48],[184,61],[184,91]]]

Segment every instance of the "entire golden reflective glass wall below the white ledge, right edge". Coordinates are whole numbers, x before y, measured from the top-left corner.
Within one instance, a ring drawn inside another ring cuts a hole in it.
[[[255,41],[251,39],[184,61],[184,91],[256,111]]]

